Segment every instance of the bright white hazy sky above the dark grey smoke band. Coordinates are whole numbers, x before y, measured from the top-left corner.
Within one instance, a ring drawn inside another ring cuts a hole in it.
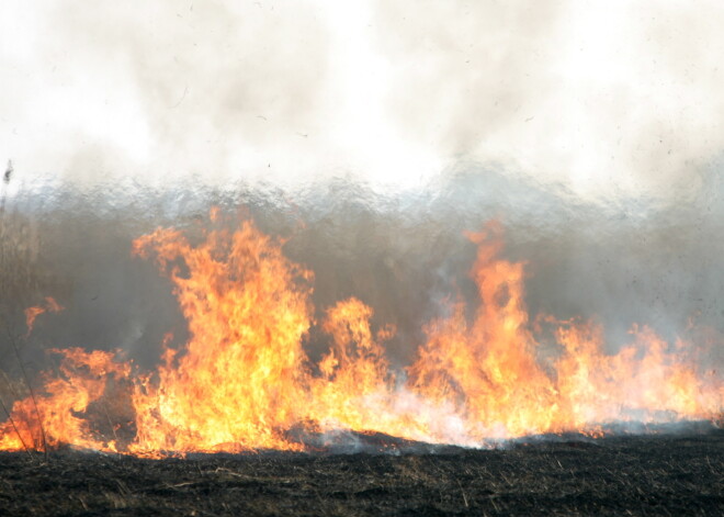
[[[425,188],[457,164],[676,201],[724,148],[717,1],[3,0],[0,160]]]

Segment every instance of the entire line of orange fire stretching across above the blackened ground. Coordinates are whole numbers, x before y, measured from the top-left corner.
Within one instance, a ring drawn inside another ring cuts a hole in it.
[[[170,279],[188,342],[165,344],[152,372],[112,352],[52,350],[63,358],[58,374],[46,373],[42,392],[15,402],[0,449],[69,443],[150,457],[303,450],[305,437],[336,429],[480,446],[530,434],[597,434],[622,420],[721,418],[721,376],[697,366],[692,344],[670,345],[641,327],[631,345],[608,355],[592,323],[531,323],[524,265],[500,258],[500,225],[468,237],[478,247],[471,277],[479,306],[471,316],[462,301],[451,303],[448,317],[427,324],[412,364],[395,370],[385,355],[395,328],[373,328],[373,308],[354,297],[325,311],[319,328],[331,347],[312,363],[304,344],[317,324],[314,274],[251,222],[210,231],[199,244],[157,229],[133,250]],[[42,312],[59,310],[50,301],[29,310],[29,333]],[[542,324],[553,328],[553,357],[542,350]],[[121,409],[109,402],[124,397],[113,403]],[[116,435],[122,428],[126,438]]]

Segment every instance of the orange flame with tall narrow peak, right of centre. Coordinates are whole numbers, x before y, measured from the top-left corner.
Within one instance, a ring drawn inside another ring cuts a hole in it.
[[[523,265],[495,257],[496,224],[470,234],[478,244],[472,277],[482,304],[468,324],[464,305],[428,327],[429,340],[409,369],[416,391],[437,403],[454,401],[468,434],[504,438],[557,430],[555,385],[535,360],[523,304]]]

